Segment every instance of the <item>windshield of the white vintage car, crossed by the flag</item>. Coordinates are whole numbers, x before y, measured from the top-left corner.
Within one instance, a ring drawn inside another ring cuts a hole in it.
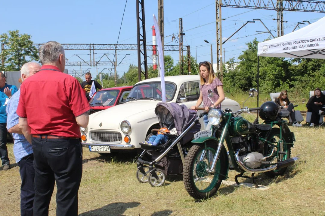
[[[175,94],[175,84],[165,83],[166,101],[171,101]],[[143,83],[133,86],[126,101],[146,99],[162,100],[161,83]]]

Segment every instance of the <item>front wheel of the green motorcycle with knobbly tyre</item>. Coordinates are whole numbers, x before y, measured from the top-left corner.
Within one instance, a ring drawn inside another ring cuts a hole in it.
[[[214,173],[209,173],[217,145],[212,142],[193,145],[183,167],[183,181],[188,194],[194,199],[208,199],[213,197],[221,185],[222,166],[220,154],[216,162]],[[222,147],[224,150],[224,147]],[[225,150],[224,150],[225,151]],[[226,154],[227,155],[227,154]],[[222,157],[223,158],[223,157]]]

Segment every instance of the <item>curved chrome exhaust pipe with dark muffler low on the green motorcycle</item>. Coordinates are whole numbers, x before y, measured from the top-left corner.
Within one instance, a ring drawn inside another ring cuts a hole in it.
[[[265,173],[265,172],[272,171],[272,170],[275,170],[275,169],[281,169],[281,168],[284,168],[284,167],[287,167],[287,166],[290,166],[290,165],[294,165],[300,159],[298,157],[299,155],[297,155],[295,157],[289,158],[289,159],[284,160],[284,161],[280,161],[280,162],[278,162],[278,163],[276,163],[274,165],[271,165],[271,166],[263,168],[263,169],[251,169],[251,168],[245,166],[240,161],[239,153],[240,153],[240,150],[237,150],[236,153],[235,153],[236,162],[239,165],[239,167],[242,170],[244,170],[246,173]]]

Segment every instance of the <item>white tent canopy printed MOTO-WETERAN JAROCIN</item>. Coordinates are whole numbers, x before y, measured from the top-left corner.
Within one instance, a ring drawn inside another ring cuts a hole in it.
[[[257,55],[325,59],[325,17],[279,38],[258,43]]]

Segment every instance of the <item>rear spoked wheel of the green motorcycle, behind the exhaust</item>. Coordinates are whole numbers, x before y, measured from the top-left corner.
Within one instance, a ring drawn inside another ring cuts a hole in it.
[[[278,141],[280,140],[280,129],[279,128],[272,128],[271,134],[267,138],[267,141],[273,142],[275,145],[278,144]],[[287,134],[282,133],[282,141],[283,142],[289,142],[289,137]],[[277,162],[284,161],[290,158],[291,156],[291,147],[289,147],[287,144],[282,144],[282,149],[279,149],[280,152],[284,152],[285,154],[275,154],[274,157],[270,157],[269,160],[274,160],[276,158]],[[277,152],[279,152],[277,151]],[[270,145],[265,145],[265,155],[269,155],[272,152],[272,147]],[[280,158],[281,156],[281,158]],[[269,172],[265,172],[266,176],[269,177],[275,177],[279,175],[283,175],[284,172],[287,170],[287,167],[284,167],[282,169],[276,169]]]

